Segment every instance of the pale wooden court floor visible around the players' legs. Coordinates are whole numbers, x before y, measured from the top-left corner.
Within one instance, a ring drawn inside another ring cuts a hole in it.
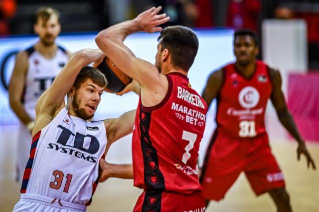
[[[319,212],[319,171],[307,170],[304,158],[297,163],[296,143],[275,141],[272,142],[272,146],[273,153],[285,174],[294,211]],[[319,166],[319,145],[309,143],[308,146]],[[13,172],[13,159],[8,158],[1,163],[0,212],[11,212],[19,199],[19,185],[13,181],[13,175],[9,174]],[[130,212],[141,193],[141,190],[133,187],[131,180],[110,179],[104,184],[99,184],[88,212]],[[256,198],[245,176],[241,175],[226,195],[226,199],[219,203],[212,202],[206,211],[275,212],[276,210],[268,195]]]

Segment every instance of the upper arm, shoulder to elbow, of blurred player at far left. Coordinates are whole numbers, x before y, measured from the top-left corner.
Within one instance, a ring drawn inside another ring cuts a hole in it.
[[[15,64],[9,83],[10,104],[13,104],[15,101],[21,100],[27,68],[27,53],[25,51],[19,52],[15,58]]]

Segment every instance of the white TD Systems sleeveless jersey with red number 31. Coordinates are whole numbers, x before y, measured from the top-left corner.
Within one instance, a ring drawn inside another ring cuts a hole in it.
[[[63,108],[32,139],[21,194],[90,205],[106,145],[103,121],[88,122]]]

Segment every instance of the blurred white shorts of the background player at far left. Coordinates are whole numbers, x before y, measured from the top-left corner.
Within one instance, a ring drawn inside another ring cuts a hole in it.
[[[26,127],[22,123],[19,124],[20,126],[16,143],[15,179],[22,183],[25,166],[30,157],[32,138],[31,133],[26,129]]]

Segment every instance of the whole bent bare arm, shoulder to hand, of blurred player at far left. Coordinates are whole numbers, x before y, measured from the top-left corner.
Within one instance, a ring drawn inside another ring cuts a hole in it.
[[[26,51],[19,52],[15,57],[15,64],[9,83],[9,102],[10,107],[19,118],[19,120],[24,124],[28,125],[33,120],[24,110],[22,105],[22,95],[23,89],[25,87],[25,76],[28,68],[28,55]]]

